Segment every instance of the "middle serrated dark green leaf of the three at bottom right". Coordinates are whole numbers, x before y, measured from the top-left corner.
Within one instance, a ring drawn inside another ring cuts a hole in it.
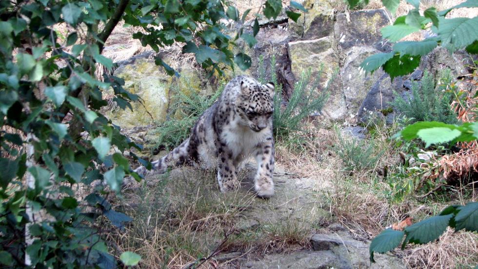
[[[405,228],[407,236],[402,246],[405,246],[406,243],[425,244],[438,239],[448,227],[452,217],[453,214],[433,216]]]

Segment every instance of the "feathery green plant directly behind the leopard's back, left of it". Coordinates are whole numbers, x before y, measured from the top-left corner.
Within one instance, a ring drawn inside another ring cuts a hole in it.
[[[199,94],[188,96],[181,91],[177,91],[177,93],[179,100],[173,111],[178,114],[178,119],[170,119],[160,124],[154,131],[159,134],[156,142],[159,148],[173,149],[188,138],[199,116],[218,100],[222,88],[219,88],[214,95],[209,97]]]

